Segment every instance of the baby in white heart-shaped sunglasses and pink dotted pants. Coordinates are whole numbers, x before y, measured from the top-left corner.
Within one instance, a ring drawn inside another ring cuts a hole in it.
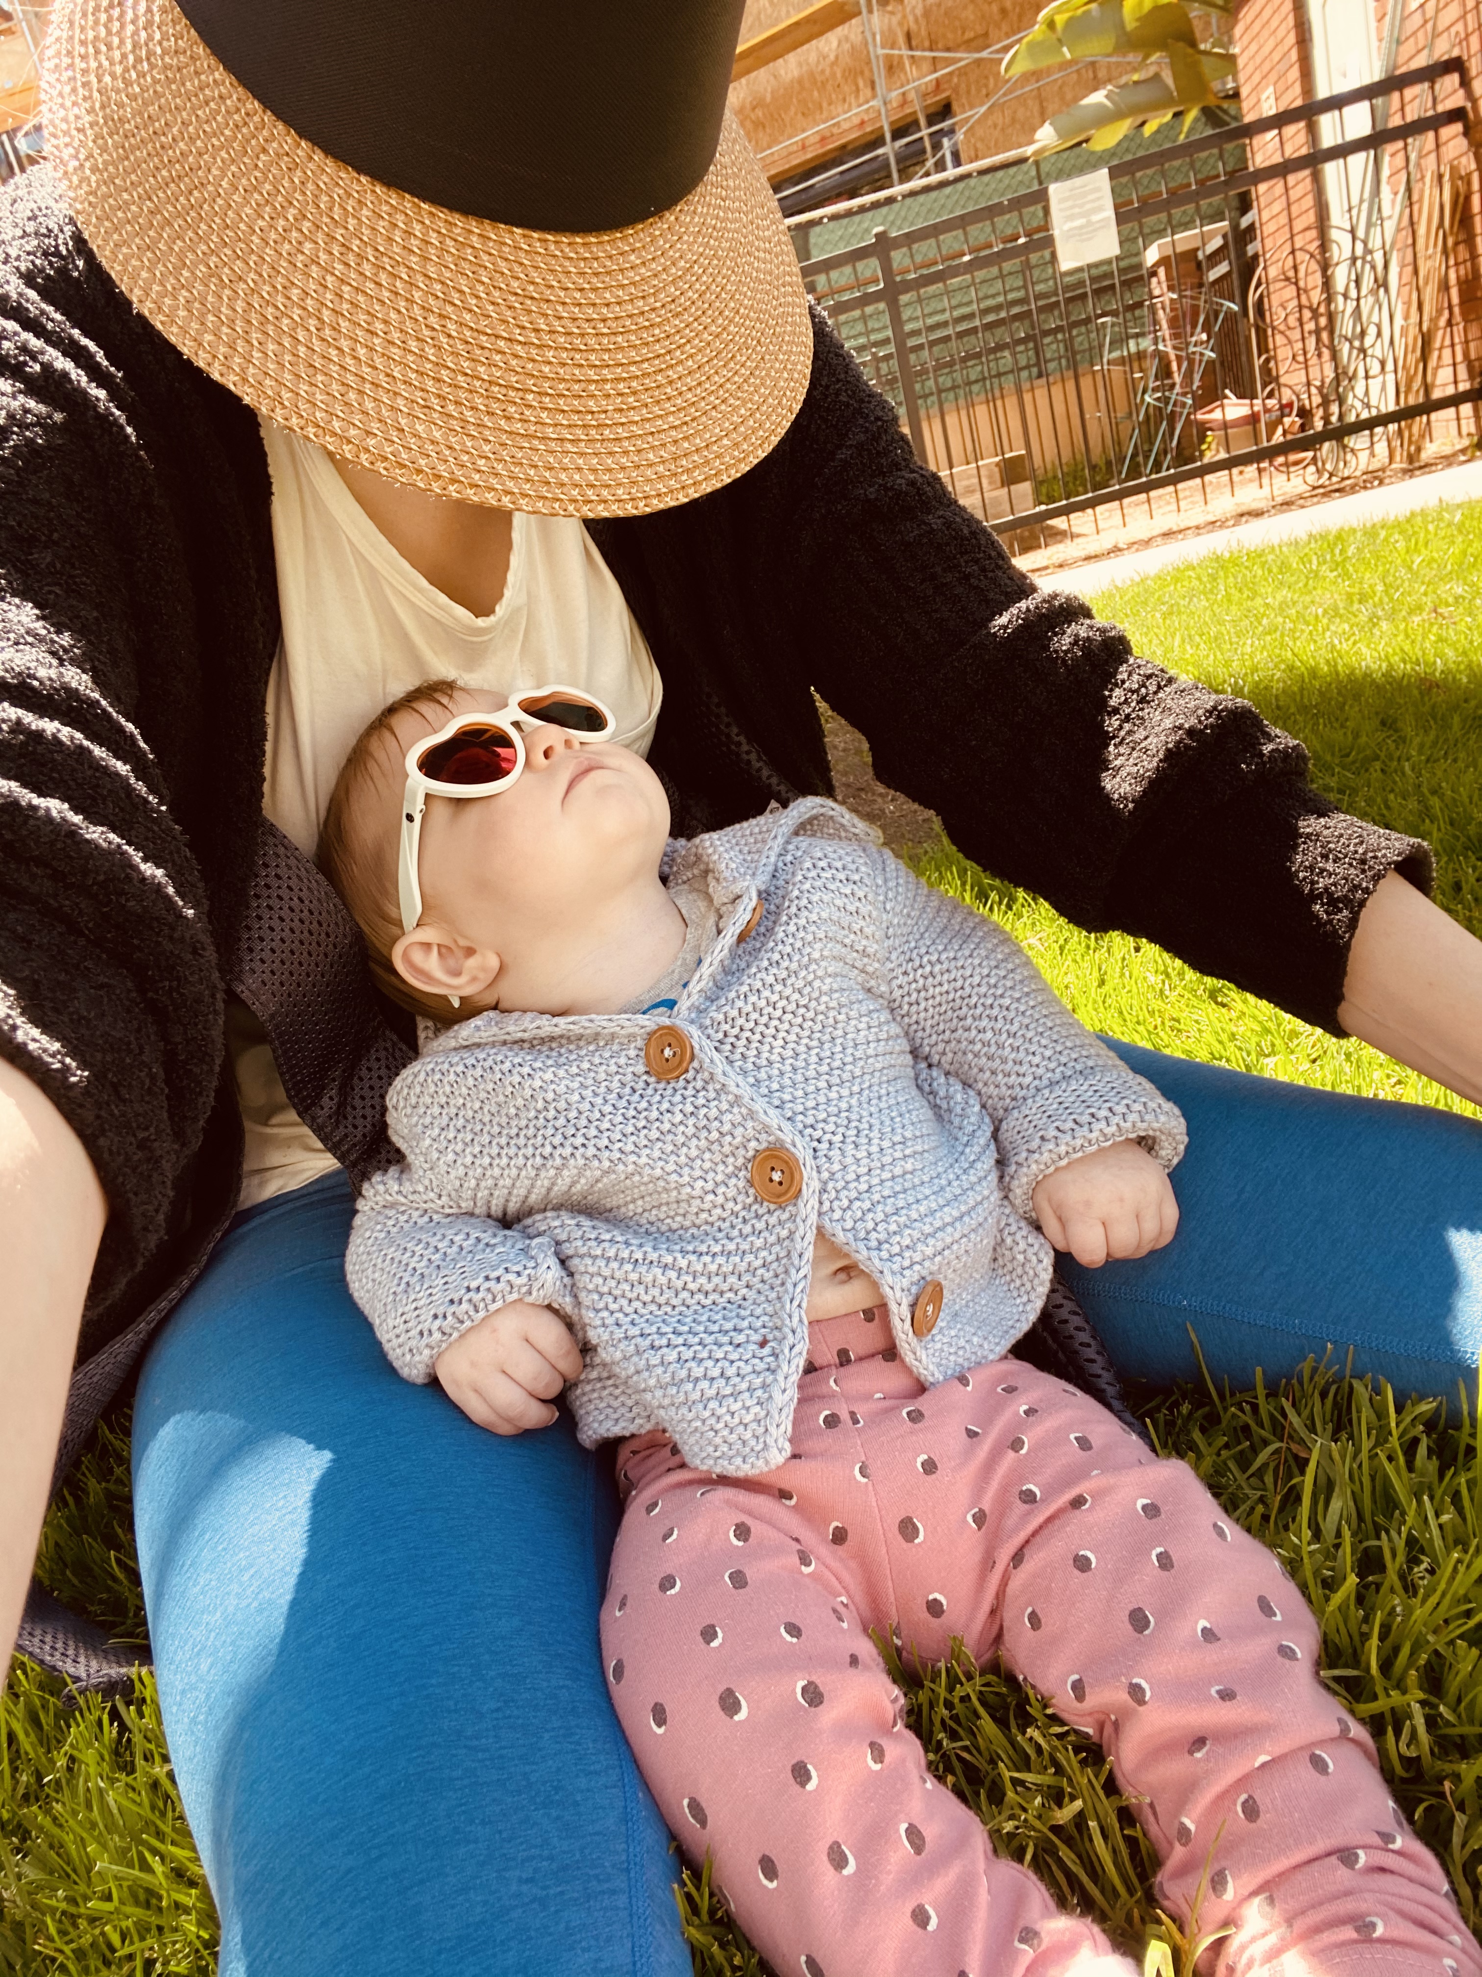
[[[779,1973],[1126,1971],[933,1785],[871,1645],[1002,1655],[1112,1754],[1160,1902],[1247,1973],[1482,1973],[1276,1560],[1006,1356],[1053,1247],[1166,1244],[1178,1111],[990,919],[822,799],[668,842],[565,688],[433,682],[322,862],[439,1024],[346,1271],[480,1425],[618,1439],[603,1657]]]

